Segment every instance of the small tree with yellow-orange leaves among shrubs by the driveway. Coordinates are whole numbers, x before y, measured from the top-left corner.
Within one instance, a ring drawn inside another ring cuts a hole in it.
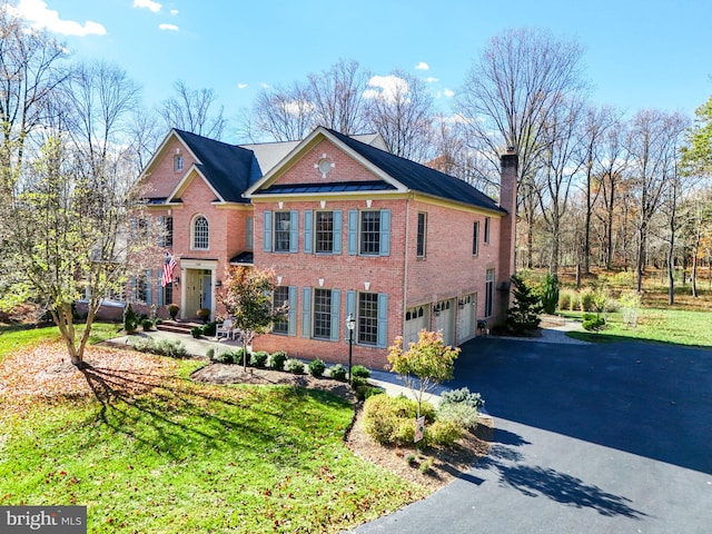
[[[418,417],[423,394],[453,377],[458,355],[459,348],[445,345],[443,334],[425,329],[421,330],[418,343],[411,343],[407,350],[403,350],[400,336],[388,348],[387,368],[400,375],[413,393],[418,403]]]

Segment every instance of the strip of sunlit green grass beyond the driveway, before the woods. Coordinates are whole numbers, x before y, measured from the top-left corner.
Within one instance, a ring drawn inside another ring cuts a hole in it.
[[[583,313],[562,315],[582,318]],[[606,315],[607,328],[600,333],[573,332],[568,335],[587,342],[617,342],[640,339],[675,345],[712,347],[712,313],[681,309],[642,308],[637,327],[626,327],[620,313]]]

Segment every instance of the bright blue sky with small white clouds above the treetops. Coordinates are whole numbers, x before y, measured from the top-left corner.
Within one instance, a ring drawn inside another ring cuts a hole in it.
[[[123,67],[156,106],[182,79],[228,116],[261,86],[306,79],[339,58],[428,81],[439,109],[487,40],[547,28],[584,48],[592,100],[633,115],[694,109],[712,95],[710,0],[14,0],[82,59]]]

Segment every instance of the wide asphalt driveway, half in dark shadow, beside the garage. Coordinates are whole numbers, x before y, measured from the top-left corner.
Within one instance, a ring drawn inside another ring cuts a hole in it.
[[[368,533],[712,532],[712,352],[477,338],[488,457]]]

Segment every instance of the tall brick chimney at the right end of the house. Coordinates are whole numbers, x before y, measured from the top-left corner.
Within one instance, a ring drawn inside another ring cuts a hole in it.
[[[501,319],[506,318],[510,305],[510,277],[515,271],[516,247],[516,178],[520,157],[514,147],[507,147],[500,156],[500,206],[507,211],[500,222],[500,261],[497,265],[497,289]]]

